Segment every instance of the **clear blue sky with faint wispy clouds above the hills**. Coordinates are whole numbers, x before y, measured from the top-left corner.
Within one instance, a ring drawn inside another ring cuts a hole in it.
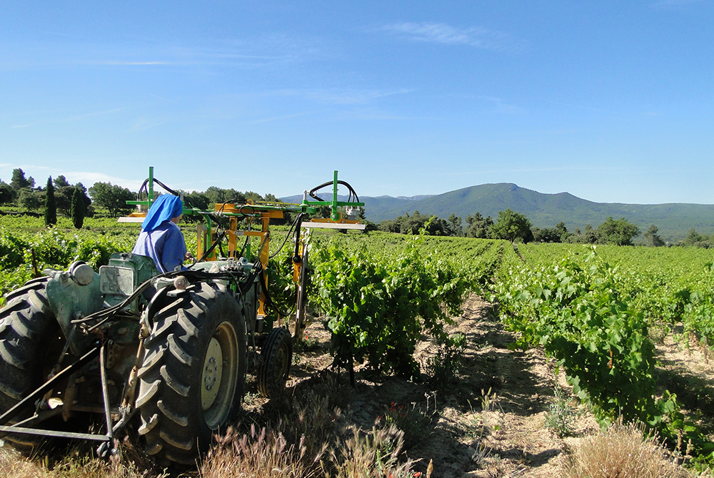
[[[0,179],[714,203],[714,5],[13,1]]]

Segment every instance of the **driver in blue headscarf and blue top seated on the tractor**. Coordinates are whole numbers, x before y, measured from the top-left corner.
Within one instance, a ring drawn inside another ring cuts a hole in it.
[[[183,238],[178,221],[183,215],[183,202],[173,194],[163,194],[151,205],[141,233],[136,239],[132,254],[146,255],[154,259],[161,273],[183,267],[186,258],[186,240]]]

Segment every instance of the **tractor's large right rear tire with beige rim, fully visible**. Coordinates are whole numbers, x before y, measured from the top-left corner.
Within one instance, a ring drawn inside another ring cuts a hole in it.
[[[169,292],[150,317],[136,408],[146,452],[160,464],[192,464],[235,419],[246,382],[246,322],[223,285]]]

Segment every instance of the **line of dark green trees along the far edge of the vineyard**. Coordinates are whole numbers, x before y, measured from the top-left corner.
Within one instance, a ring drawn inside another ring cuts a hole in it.
[[[282,202],[270,193],[260,195],[253,191],[241,192],[233,188],[216,186],[210,186],[201,192],[178,192],[183,195],[183,200],[188,206],[202,210],[212,208],[216,203],[246,203],[248,200]],[[136,198],[136,193],[120,185],[97,182],[88,189],[82,183],[70,184],[62,175],[54,179],[48,178],[44,188],[36,187],[34,178],[26,177],[21,168],[13,170],[10,183],[0,179],[0,205],[14,205],[31,214],[39,214],[38,211],[44,208],[45,222],[48,225],[56,223],[56,215],[61,214],[72,218],[76,227],[81,228],[84,217],[94,215],[97,208],[104,215],[116,218],[131,213],[134,206],[127,205],[126,201]],[[328,214],[329,210],[326,210],[318,215],[327,217]],[[364,219],[364,210],[359,211],[358,217]],[[531,224],[526,215],[510,208],[499,212],[496,220],[490,215],[483,217],[481,213],[476,212],[466,217],[466,224],[463,224],[461,217],[453,213],[447,219],[443,219],[436,215],[424,215],[418,211],[412,215],[405,213],[396,219],[383,220],[378,225],[366,222],[368,230],[416,234],[423,228],[428,235],[505,239],[524,243],[633,245],[633,239],[640,235],[637,225],[625,218],[615,220],[611,217],[597,228],[588,224],[583,230],[577,228],[573,232],[570,232],[563,222],[553,228],[538,228]],[[643,238],[645,245],[652,247],[668,245],[658,235],[658,228],[654,224],[643,233]],[[692,229],[686,238],[674,245],[714,248],[714,234],[706,236]]]

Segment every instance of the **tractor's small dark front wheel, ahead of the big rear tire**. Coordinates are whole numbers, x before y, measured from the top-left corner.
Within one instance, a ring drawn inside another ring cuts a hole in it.
[[[293,361],[293,342],[285,327],[268,332],[261,348],[261,366],[258,369],[258,392],[272,398],[285,390],[290,365]]]

